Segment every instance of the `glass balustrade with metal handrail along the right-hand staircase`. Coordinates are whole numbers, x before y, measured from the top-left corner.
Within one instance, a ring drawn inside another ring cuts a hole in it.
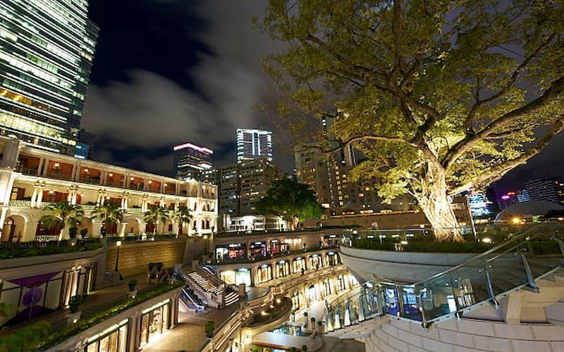
[[[564,241],[555,227],[540,224],[415,284],[386,279],[365,282],[325,310],[326,332],[347,334],[348,327],[384,315],[429,327],[486,304],[498,308],[499,299],[513,291],[539,292],[535,281],[553,279],[563,259]],[[564,310],[564,302],[559,303]]]

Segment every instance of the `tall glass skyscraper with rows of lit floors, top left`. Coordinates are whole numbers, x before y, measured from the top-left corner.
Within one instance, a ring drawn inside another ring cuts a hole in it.
[[[0,2],[0,134],[75,155],[98,33],[87,7]]]

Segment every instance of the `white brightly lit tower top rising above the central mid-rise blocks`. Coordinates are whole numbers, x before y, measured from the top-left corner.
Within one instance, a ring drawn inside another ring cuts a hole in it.
[[[262,158],[272,161],[272,132],[240,128],[237,130],[237,162]]]

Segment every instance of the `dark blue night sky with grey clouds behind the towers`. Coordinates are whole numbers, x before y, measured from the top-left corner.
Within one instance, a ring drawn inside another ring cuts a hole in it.
[[[287,137],[259,113],[276,93],[262,57],[280,44],[251,25],[256,0],[91,0],[100,27],[82,127],[97,134],[99,161],[171,175],[172,147],[214,149],[214,165],[235,162],[238,127],[274,131],[274,161],[293,168]],[[564,134],[496,188],[564,175]]]

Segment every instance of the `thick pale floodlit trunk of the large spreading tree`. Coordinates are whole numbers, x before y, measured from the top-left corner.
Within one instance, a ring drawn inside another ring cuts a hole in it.
[[[436,241],[464,241],[455,213],[447,195],[444,177],[430,177],[427,191],[416,195],[422,212],[434,229]]]

